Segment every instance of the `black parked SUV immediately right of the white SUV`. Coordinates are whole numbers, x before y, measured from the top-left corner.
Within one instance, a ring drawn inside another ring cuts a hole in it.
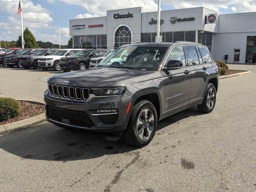
[[[73,57],[63,57],[60,59],[60,68],[64,72],[71,70],[85,70],[90,67],[90,59],[103,56],[106,49],[85,49],[76,53]]]

